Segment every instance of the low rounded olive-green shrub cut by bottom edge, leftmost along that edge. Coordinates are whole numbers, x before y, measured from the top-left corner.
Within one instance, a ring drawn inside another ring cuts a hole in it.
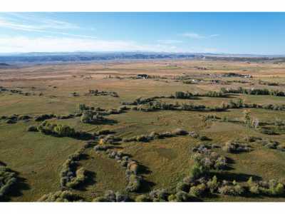
[[[38,199],[39,202],[74,202],[81,201],[80,197],[71,191],[58,191],[56,193],[48,193]]]

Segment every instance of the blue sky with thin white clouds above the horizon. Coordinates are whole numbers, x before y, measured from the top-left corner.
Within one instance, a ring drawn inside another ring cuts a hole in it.
[[[0,13],[0,53],[285,54],[285,13]]]

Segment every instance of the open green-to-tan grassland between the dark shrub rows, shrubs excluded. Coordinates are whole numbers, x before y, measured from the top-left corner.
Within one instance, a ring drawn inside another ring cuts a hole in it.
[[[244,76],[223,76],[224,73],[239,73]],[[150,78],[136,78],[147,74]],[[245,76],[252,76],[246,78]],[[193,80],[193,81],[192,81]],[[214,80],[214,82],[213,82]],[[187,81],[192,81],[187,83]],[[275,83],[269,86],[266,83]],[[124,106],[137,98],[175,95],[177,91],[207,93],[221,88],[268,88],[285,91],[285,63],[271,61],[249,63],[239,61],[124,61],[105,63],[78,63],[63,65],[37,65],[19,68],[1,68],[0,86],[9,91],[0,91],[0,117],[28,115],[31,119],[7,123],[0,120],[0,161],[17,173],[18,184],[4,200],[36,201],[42,195],[61,190],[62,165],[71,154],[82,148],[86,140],[44,135],[27,131],[28,126],[38,126],[42,121],[33,118],[42,114],[66,116],[78,111],[79,103],[105,110]],[[110,95],[93,96],[89,90],[111,91]],[[19,90],[21,93],[11,90]],[[26,95],[24,93],[27,93]],[[224,97],[198,96],[193,99],[156,98],[165,103],[192,103],[209,107],[221,106],[230,100],[242,98],[244,103],[285,104],[285,96],[249,95],[229,93]],[[132,105],[123,113],[105,116],[108,123],[82,123],[80,116],[72,118],[48,118],[46,121],[68,125],[76,131],[95,133],[109,130],[120,138],[131,138],[155,131],[162,133],[181,128],[207,136],[219,148],[214,150],[231,160],[230,170],[220,171],[221,179],[236,180],[244,184],[252,177],[257,180],[282,180],[285,178],[285,152],[266,148],[258,142],[249,143],[252,151],[227,153],[222,146],[228,141],[247,136],[279,142],[285,146],[285,129],[276,129],[276,121],[285,121],[285,111],[264,108],[247,108],[252,118],[258,118],[259,128],[249,128],[242,123],[244,108],[227,111],[135,111]],[[205,120],[209,114],[217,118]],[[265,124],[265,125],[264,125]],[[270,128],[276,134],[262,133],[261,128]],[[94,144],[98,139],[94,138]],[[194,164],[192,148],[203,143],[191,136],[175,136],[149,142],[118,141],[114,151],[128,154],[139,163],[144,180],[143,187],[130,193],[132,197],[147,194],[155,189],[175,191],[177,183],[190,174]],[[83,200],[92,201],[105,190],[125,192],[128,180],[125,168],[107,153],[96,152],[93,146],[85,148],[84,158],[79,162],[88,170],[88,181],[81,188],[71,190]],[[219,176],[218,176],[219,177]],[[199,197],[203,201],[285,201],[283,195],[239,195]]]

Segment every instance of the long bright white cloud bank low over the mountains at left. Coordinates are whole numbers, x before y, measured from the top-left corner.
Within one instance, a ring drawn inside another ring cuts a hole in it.
[[[138,44],[135,41],[107,41],[101,39],[25,36],[0,37],[0,52],[54,52],[54,51],[162,51],[190,52],[167,44]]]

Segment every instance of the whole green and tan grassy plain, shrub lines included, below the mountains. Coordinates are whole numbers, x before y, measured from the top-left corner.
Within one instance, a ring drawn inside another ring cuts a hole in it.
[[[285,201],[285,96],[276,93],[285,92],[284,85],[285,64],[274,61],[0,68],[0,166],[16,178],[0,200],[37,201],[68,191],[76,200],[102,201],[113,190],[137,201],[142,195],[152,201]],[[234,91],[239,87],[270,94]],[[47,127],[43,123],[69,126],[81,136],[38,128]],[[234,143],[239,148],[226,148]],[[221,167],[206,164],[217,163],[211,153],[224,158]],[[122,156],[128,157],[125,166]],[[203,166],[196,177],[195,165]],[[202,185],[214,175],[219,187],[210,193]],[[140,185],[130,190],[132,176]],[[177,187],[183,182],[184,188]]]

